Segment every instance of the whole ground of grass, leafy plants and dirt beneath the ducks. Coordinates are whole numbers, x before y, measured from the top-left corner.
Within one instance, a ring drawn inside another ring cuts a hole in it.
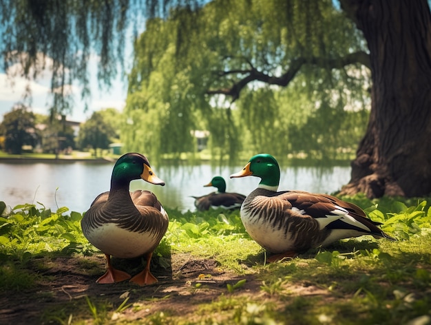
[[[267,263],[239,211],[168,209],[149,286],[96,284],[105,261],[82,213],[0,202],[0,323],[430,324],[430,198],[344,199],[397,241],[362,236]]]

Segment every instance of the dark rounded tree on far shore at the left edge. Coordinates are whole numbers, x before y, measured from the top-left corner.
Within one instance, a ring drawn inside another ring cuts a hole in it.
[[[12,112],[3,115],[0,134],[5,136],[4,147],[10,154],[21,154],[23,145],[36,144],[38,135],[34,128],[34,114],[25,105],[17,104]]]

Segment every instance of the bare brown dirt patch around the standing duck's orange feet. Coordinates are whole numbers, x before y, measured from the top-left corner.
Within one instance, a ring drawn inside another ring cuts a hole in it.
[[[112,262],[116,266],[116,261]],[[90,297],[92,302],[96,302],[98,298],[108,300],[112,304],[112,309],[109,309],[111,311],[124,301],[123,294],[128,294],[127,304],[143,303],[143,308],[139,308],[138,311],[126,310],[120,315],[133,320],[144,319],[156,311],[169,311],[171,315],[193,317],[193,311],[198,304],[213,301],[227,293],[228,283],[235,284],[244,278],[247,281],[241,289],[242,294],[260,294],[261,282],[253,279],[251,275],[238,276],[226,273],[214,260],[197,260],[187,254],[176,254],[172,255],[169,262],[168,269],[163,269],[157,264],[151,267],[151,272],[158,278],[156,284],[137,286],[129,282],[97,284],[95,280],[105,270],[103,255],[34,260],[32,262],[34,267],[30,266],[30,271],[43,275],[40,277],[41,280],[32,290],[0,293],[0,324],[55,324],[55,320],[43,322],[43,319],[47,319],[46,316],[43,317],[44,313],[59,314],[70,302],[79,302],[84,305],[83,309],[87,308],[87,311],[90,311],[83,298],[85,295]],[[128,271],[132,275],[142,269],[142,261],[127,263],[129,264],[122,264],[118,269]],[[201,283],[204,290],[196,290],[196,283]],[[68,310],[63,312],[63,317],[64,314],[70,313],[73,314]],[[75,315],[76,313],[75,311]],[[63,324],[67,324],[67,317],[62,320]]]

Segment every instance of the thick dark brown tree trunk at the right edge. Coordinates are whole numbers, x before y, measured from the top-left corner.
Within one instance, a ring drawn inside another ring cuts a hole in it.
[[[341,0],[370,50],[371,111],[341,194],[431,193],[431,14],[427,0]]]

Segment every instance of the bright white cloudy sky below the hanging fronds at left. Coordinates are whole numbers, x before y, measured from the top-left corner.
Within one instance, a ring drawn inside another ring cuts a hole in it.
[[[132,56],[129,55],[130,61]],[[70,115],[67,115],[67,120],[76,122],[84,122],[90,118],[93,112],[107,107],[114,107],[121,111],[125,106],[127,97],[127,78],[121,80],[118,76],[112,81],[112,87],[109,90],[100,90],[96,78],[97,57],[91,56],[88,64],[90,67],[90,90],[91,98],[88,101],[87,112],[84,112],[85,105],[81,101],[81,87],[78,83],[72,85],[72,94],[74,96],[74,108]],[[127,63],[125,64],[127,67]],[[11,67],[11,69],[19,69],[19,67]],[[12,106],[15,103],[23,102],[25,88],[30,86],[32,92],[32,112],[37,114],[49,114],[50,107],[50,73],[41,74],[36,80],[29,81],[21,76],[9,78],[4,71],[0,71],[0,122],[3,120],[3,115],[11,112]]]

